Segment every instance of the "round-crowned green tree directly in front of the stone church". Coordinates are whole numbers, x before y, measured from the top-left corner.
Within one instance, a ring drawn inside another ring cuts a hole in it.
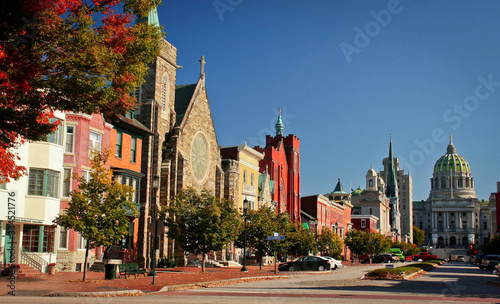
[[[207,190],[197,193],[188,188],[179,192],[167,211],[168,235],[184,250],[202,254],[202,272],[205,255],[222,250],[236,238],[239,216],[233,202],[220,200]]]

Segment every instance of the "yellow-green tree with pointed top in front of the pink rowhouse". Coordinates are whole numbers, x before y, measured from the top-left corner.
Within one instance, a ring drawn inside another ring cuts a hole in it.
[[[130,200],[133,189],[112,179],[106,168],[109,150],[91,153],[90,180],[78,178],[78,188],[72,192],[69,207],[54,223],[81,233],[87,240],[83,281],[87,276],[89,250],[98,246],[111,246],[128,233],[127,209],[137,210]]]

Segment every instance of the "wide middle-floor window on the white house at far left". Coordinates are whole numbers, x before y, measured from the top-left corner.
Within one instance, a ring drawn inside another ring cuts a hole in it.
[[[59,197],[59,172],[48,169],[30,169],[28,195]]]

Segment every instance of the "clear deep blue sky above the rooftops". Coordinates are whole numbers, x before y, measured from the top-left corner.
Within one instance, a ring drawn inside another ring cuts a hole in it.
[[[205,56],[219,145],[300,138],[301,195],[365,187],[389,152],[425,200],[449,134],[479,199],[500,181],[500,1],[164,0],[177,84]]]

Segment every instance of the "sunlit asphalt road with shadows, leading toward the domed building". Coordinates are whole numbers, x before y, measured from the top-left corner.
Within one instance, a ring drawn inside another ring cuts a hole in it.
[[[358,280],[367,271],[379,267],[345,267],[331,273],[302,274],[286,280],[161,292],[142,297],[0,297],[0,303],[500,303],[500,278],[471,264],[444,264],[408,281]]]

